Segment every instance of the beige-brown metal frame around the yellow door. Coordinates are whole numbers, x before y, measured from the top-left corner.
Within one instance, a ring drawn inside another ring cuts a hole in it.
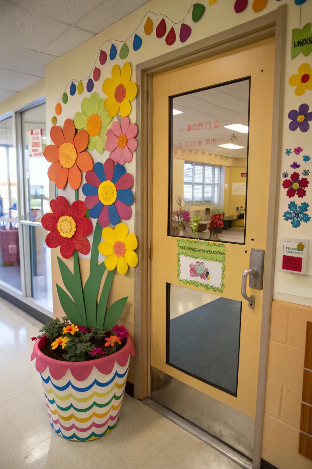
[[[263,306],[258,369],[257,403],[254,429],[253,469],[260,468],[264,401],[267,381],[268,343],[276,251],[277,207],[279,186],[277,174],[281,166],[281,139],[283,122],[283,72],[286,37],[287,5],[258,18],[222,31],[193,44],[185,45],[136,66],[136,120],[140,129],[136,152],[136,212],[140,262],[134,270],[134,340],[136,368],[134,393],[137,399],[150,397],[150,289],[151,289],[151,234],[152,234],[152,80],[159,73],[188,65],[220,53],[229,52],[262,39],[275,37],[275,69],[272,116],[271,171],[269,181],[270,207],[265,254]],[[147,340],[142,340],[146,337]]]

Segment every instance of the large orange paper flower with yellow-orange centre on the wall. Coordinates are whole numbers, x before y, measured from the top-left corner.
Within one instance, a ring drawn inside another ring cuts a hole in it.
[[[78,189],[81,182],[81,171],[93,168],[93,161],[87,151],[89,142],[87,130],[76,133],[73,121],[66,119],[63,130],[54,125],[50,137],[54,145],[47,145],[44,158],[52,163],[48,169],[48,178],[55,181],[58,189],[63,189],[67,180],[72,189]]]

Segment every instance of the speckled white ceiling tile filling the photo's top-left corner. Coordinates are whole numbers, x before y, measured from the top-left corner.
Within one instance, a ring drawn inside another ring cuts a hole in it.
[[[0,41],[41,50],[68,26],[0,0]]]

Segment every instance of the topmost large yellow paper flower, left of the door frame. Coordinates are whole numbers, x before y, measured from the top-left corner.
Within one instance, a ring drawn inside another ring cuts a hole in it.
[[[112,77],[105,78],[102,90],[108,98],[104,101],[105,109],[109,117],[115,117],[120,109],[121,117],[131,113],[130,101],[137,95],[137,85],[130,81],[131,65],[129,62],[123,64],[120,71],[119,65],[114,65],[111,71]]]

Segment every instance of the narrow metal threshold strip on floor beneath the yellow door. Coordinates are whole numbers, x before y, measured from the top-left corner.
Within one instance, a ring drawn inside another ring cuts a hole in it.
[[[252,467],[253,467],[252,461],[247,459],[242,454],[237,453],[232,448],[225,445],[225,443],[222,443],[222,441],[220,441],[217,438],[214,438],[213,436],[209,435],[209,433],[206,433],[205,431],[203,431],[200,428],[196,427],[196,425],[191,424],[188,420],[185,420],[184,418],[182,418],[178,414],[175,414],[174,412],[169,410],[167,407],[162,406],[161,404],[159,404],[156,401],[153,401],[149,397],[146,397],[145,399],[143,399],[142,402],[145,405],[147,405],[148,407],[152,408],[153,410],[156,410],[156,412],[158,412],[159,414],[161,414],[164,417],[168,418],[169,420],[171,420],[175,424],[177,424],[180,427],[184,428],[184,430],[188,431],[189,433],[192,433],[197,438],[204,441],[207,445],[211,446],[212,448],[216,449],[220,453],[224,454],[226,457],[228,457],[232,461],[236,462],[241,467],[243,467],[245,469],[252,469]]]

